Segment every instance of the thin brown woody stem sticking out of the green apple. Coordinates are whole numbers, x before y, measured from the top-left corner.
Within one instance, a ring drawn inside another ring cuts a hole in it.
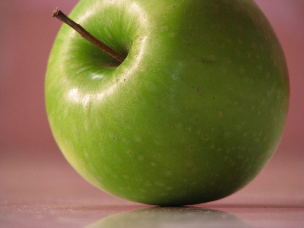
[[[82,37],[84,37],[85,39],[87,39],[88,41],[90,41],[96,47],[99,47],[100,49],[102,49],[105,53],[109,54],[110,56],[112,56],[113,58],[115,58],[116,60],[118,60],[119,62],[122,63],[123,60],[125,60],[126,57],[124,57],[123,55],[119,54],[118,52],[116,52],[112,48],[108,47],[107,45],[105,45],[101,41],[97,40],[87,30],[85,30],[81,25],[77,24],[76,22],[74,22],[73,20],[71,20],[67,15],[65,15],[63,12],[61,12],[60,10],[58,10],[58,8],[56,8],[56,10],[53,12],[53,17],[58,18],[60,21],[66,23],[68,26],[72,27]]]

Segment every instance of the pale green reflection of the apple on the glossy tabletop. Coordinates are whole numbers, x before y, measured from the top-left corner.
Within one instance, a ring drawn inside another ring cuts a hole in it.
[[[122,212],[98,220],[84,228],[154,228],[154,227],[251,227],[234,215],[197,207],[152,207]]]

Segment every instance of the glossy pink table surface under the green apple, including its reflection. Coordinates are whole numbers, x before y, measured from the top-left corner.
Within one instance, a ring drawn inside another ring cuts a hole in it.
[[[59,151],[0,152],[1,228],[304,227],[303,159],[274,156],[231,196],[162,208],[102,192],[83,180]]]

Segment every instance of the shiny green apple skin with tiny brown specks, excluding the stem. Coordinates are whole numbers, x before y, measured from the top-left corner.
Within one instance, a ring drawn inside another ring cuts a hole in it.
[[[50,127],[87,181],[136,202],[196,204],[236,192],[274,153],[288,71],[254,2],[81,0],[70,17],[128,54],[119,65],[67,25],[50,54]]]

